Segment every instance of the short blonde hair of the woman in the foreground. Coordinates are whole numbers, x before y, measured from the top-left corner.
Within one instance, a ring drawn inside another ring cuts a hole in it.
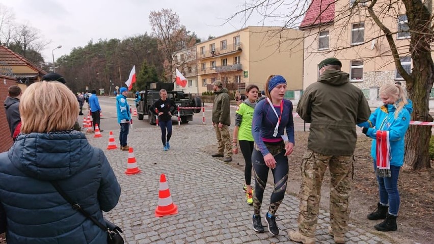
[[[78,115],[74,93],[60,82],[35,82],[19,103],[21,132],[47,133],[72,129]]]

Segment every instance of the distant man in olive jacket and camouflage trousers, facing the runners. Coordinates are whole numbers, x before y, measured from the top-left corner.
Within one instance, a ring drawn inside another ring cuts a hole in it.
[[[231,135],[229,134],[229,125],[231,125],[231,104],[228,89],[223,88],[220,80],[212,83],[214,86],[214,103],[212,105],[212,126],[215,130],[219,148],[212,157],[226,157],[224,162],[232,161],[232,144]]]

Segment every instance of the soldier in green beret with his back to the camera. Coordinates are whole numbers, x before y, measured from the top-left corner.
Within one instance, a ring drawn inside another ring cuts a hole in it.
[[[331,175],[329,233],[336,243],[345,242],[356,124],[369,119],[370,109],[362,91],[349,83],[349,75],[341,67],[335,58],[321,61],[318,82],[306,89],[297,105],[297,113],[311,125],[301,166],[299,231],[290,232],[289,238],[304,244],[315,243],[321,184],[327,167]]]

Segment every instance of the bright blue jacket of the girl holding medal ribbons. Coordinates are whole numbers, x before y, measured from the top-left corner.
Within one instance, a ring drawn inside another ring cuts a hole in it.
[[[413,102],[409,100],[396,119],[395,111],[396,108],[393,104],[385,104],[371,114],[369,121],[359,124],[359,126],[369,127],[366,135],[374,139],[371,146],[371,156],[374,161],[376,161],[377,130],[388,130],[391,149],[390,165],[400,167],[404,164],[404,135],[410,125]]]

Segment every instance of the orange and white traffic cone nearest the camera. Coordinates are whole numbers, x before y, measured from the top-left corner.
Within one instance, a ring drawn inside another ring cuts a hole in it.
[[[170,196],[169,185],[166,181],[166,175],[160,176],[160,191],[158,192],[158,206],[155,209],[155,217],[162,217],[178,213],[178,206],[176,206],[172,197]]]

